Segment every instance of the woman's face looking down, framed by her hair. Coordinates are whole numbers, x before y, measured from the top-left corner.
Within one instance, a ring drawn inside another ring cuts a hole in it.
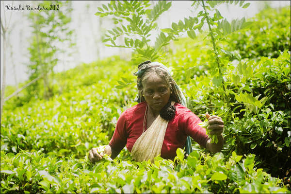
[[[160,112],[170,99],[170,88],[166,81],[157,74],[152,73],[143,81],[143,94],[148,106],[157,112]]]

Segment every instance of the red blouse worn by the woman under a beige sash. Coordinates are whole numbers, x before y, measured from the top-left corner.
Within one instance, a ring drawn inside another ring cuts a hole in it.
[[[202,147],[205,147],[209,140],[206,130],[197,124],[201,120],[190,109],[178,103],[174,106],[176,115],[168,123],[162,144],[161,157],[164,159],[174,159],[177,148],[183,149],[185,146],[187,136],[192,137]],[[145,111],[146,102],[142,102],[120,115],[109,142],[114,150],[120,152],[126,145],[129,152],[131,151],[133,144],[143,133]]]

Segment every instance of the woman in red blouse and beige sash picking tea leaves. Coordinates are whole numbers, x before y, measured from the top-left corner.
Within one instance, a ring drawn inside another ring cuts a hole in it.
[[[177,148],[185,146],[187,136],[213,153],[221,151],[223,121],[206,114],[210,134],[218,137],[218,143],[211,143],[206,130],[198,125],[200,119],[185,107],[185,97],[164,65],[146,61],[134,75],[137,75],[139,104],[120,115],[109,145],[89,151],[91,162],[102,159],[104,153],[114,159],[125,145],[137,161],[153,161],[158,155],[174,159]]]

